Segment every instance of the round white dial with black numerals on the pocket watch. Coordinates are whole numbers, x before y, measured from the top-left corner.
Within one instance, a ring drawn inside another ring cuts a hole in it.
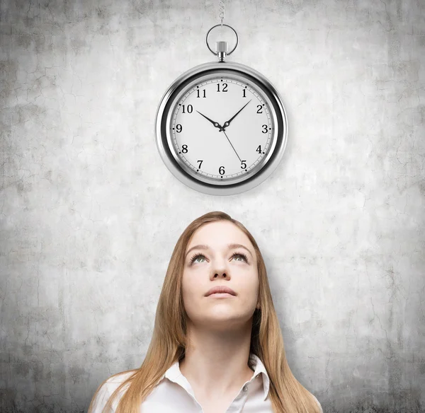
[[[240,74],[218,71],[181,88],[169,106],[169,146],[203,182],[227,185],[258,172],[273,149],[276,116],[265,91]]]

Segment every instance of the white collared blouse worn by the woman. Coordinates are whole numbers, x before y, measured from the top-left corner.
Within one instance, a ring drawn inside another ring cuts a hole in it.
[[[250,354],[254,373],[249,381],[244,383],[239,394],[234,398],[226,413],[273,413],[271,400],[268,397],[270,380],[266,368],[255,354]],[[118,385],[132,375],[134,371],[125,371],[120,375],[108,378],[103,383],[94,403],[94,413],[101,413],[108,398],[112,395]],[[127,386],[123,388],[120,395],[123,395]],[[115,397],[113,410],[118,406],[120,395]],[[319,401],[317,404],[323,413]],[[157,387],[146,397],[141,405],[141,413],[203,413],[203,409],[196,400],[193,389],[180,371],[179,361],[176,361],[158,381]]]

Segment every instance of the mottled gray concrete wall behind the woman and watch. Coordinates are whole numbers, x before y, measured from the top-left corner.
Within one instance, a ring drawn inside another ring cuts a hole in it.
[[[256,237],[324,412],[425,412],[423,1],[226,2],[229,61],[289,126],[273,175],[229,197],[183,185],[154,140],[166,88],[216,60],[218,0],[0,7],[2,413],[85,412],[140,366],[176,240],[212,210]]]

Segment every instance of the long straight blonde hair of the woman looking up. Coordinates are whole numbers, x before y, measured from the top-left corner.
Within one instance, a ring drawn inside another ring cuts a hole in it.
[[[319,413],[320,409],[312,394],[298,382],[288,366],[283,346],[282,332],[276,310],[273,306],[266,265],[254,237],[235,219],[222,211],[212,211],[200,216],[188,225],[174,247],[166,270],[164,285],[159,295],[152,340],[145,360],[109,397],[102,413],[109,412],[113,399],[128,386],[115,410],[116,413],[139,413],[140,405],[158,384],[165,371],[184,357],[186,348],[186,311],[183,306],[181,279],[186,247],[195,231],[205,223],[227,220],[240,228],[251,241],[256,252],[259,273],[260,309],[254,312],[250,352],[259,356],[270,378],[269,397],[274,413]],[[118,376],[116,373],[111,378]],[[125,372],[127,373],[127,372]],[[108,379],[106,379],[108,380]],[[98,386],[91,400],[88,413],[93,413],[94,400],[101,386]]]

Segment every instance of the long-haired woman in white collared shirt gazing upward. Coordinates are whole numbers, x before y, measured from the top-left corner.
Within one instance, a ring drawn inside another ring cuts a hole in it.
[[[142,366],[91,400],[88,413],[107,412],[322,412],[290,371],[263,257],[242,223],[213,211],[180,236]]]

